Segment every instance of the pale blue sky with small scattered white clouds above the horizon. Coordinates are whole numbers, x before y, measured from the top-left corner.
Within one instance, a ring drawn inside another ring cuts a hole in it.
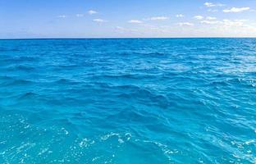
[[[256,37],[256,0],[0,0],[0,39]]]

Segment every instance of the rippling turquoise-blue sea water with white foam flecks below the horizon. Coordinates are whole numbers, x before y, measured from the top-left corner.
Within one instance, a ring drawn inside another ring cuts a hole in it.
[[[256,39],[0,40],[0,163],[255,163]]]

